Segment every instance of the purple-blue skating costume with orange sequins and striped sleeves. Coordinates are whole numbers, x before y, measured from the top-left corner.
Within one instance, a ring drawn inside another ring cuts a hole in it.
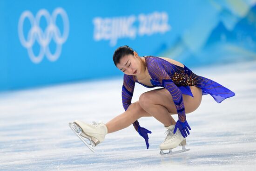
[[[122,103],[125,110],[127,110],[131,104],[135,82],[138,82],[147,88],[163,87],[167,89],[173,97],[179,120],[182,122],[186,120],[182,94],[190,95],[193,97],[189,86],[201,88],[202,95],[209,94],[218,103],[235,95],[234,92],[223,87],[219,83],[214,82],[208,78],[195,75],[185,65],[184,68],[182,68],[173,63],[169,63],[160,57],[153,56],[146,56],[145,63],[148,69],[148,73],[152,78],[150,81],[153,86],[144,85],[137,81],[136,76],[125,74],[122,86]],[[140,133],[140,130],[138,130],[138,120],[136,120],[133,125],[136,131]]]

